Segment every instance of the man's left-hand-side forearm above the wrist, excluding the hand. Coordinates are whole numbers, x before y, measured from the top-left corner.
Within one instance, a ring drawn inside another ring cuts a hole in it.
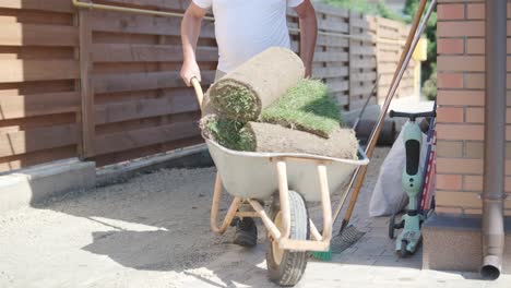
[[[181,22],[182,57],[185,62],[195,62],[197,41],[201,32],[202,19],[185,14]]]

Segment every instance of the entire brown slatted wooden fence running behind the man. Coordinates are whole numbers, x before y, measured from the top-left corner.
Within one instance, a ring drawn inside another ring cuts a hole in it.
[[[99,2],[182,12],[189,0]],[[346,110],[360,107],[378,74],[378,96],[384,96],[407,27],[317,10],[314,76]],[[288,21],[297,51],[294,12]],[[78,10],[70,0],[9,0],[0,2],[0,171],[68,157],[103,166],[202,142],[193,92],[179,77],[179,17]],[[212,22],[204,22],[198,58],[206,88],[217,60]],[[400,94],[409,95],[412,74]]]

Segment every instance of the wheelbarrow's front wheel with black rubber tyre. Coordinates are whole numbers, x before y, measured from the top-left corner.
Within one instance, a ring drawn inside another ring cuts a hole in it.
[[[289,191],[290,239],[309,239],[309,215],[300,194]],[[278,195],[274,196],[270,217],[280,228],[282,213]],[[307,251],[289,251],[278,248],[274,240],[266,241],[266,265],[270,279],[281,286],[295,286],[304,275],[307,266]]]

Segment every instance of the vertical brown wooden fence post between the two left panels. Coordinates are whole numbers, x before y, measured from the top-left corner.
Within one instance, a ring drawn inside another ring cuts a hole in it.
[[[94,156],[94,136],[95,136],[95,123],[94,123],[94,92],[91,85],[91,72],[92,72],[92,28],[90,20],[90,11],[81,9],[79,11],[80,17],[80,88],[82,109],[80,111],[81,117],[81,130],[82,130],[82,142],[81,149],[79,152],[80,158],[85,159]]]

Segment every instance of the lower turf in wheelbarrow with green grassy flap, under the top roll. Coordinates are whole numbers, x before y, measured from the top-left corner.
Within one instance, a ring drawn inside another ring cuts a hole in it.
[[[338,106],[320,81],[300,80],[259,120],[230,119],[221,111],[204,117],[201,128],[206,137],[235,151],[357,157],[355,132],[341,128]]]

